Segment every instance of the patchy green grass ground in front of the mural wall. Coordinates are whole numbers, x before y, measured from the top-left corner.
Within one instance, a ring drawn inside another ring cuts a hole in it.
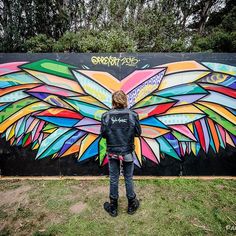
[[[21,201],[4,198],[18,192]],[[140,209],[126,213],[120,180],[118,217],[103,210],[109,180],[0,181],[0,235],[235,235],[234,180],[137,180]],[[24,201],[22,201],[22,199]],[[3,204],[4,203],[4,204]],[[73,212],[71,207],[84,208]]]

